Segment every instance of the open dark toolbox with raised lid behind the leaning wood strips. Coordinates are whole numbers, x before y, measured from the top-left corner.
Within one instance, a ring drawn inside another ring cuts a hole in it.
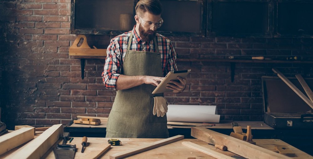
[[[296,78],[288,78],[305,93]],[[313,79],[305,79],[313,90]],[[275,129],[313,129],[313,109],[279,77],[262,76],[264,123]]]

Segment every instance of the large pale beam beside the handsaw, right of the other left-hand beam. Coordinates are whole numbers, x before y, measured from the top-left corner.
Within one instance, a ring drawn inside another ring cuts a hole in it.
[[[34,131],[32,130],[32,134]],[[8,158],[39,159],[63,134],[62,124],[53,125],[41,135],[8,156]]]

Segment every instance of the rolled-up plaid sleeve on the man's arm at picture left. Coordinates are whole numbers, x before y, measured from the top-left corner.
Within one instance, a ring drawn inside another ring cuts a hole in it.
[[[107,48],[107,58],[105,60],[102,81],[104,87],[107,89],[116,90],[116,81],[121,74],[121,53],[117,49],[117,45],[112,39],[110,45]]]

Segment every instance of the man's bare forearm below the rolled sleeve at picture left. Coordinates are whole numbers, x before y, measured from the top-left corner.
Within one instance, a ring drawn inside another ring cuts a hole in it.
[[[132,87],[136,87],[138,85],[142,85],[144,76],[126,76],[119,75],[116,81],[116,89],[117,90],[126,90]]]

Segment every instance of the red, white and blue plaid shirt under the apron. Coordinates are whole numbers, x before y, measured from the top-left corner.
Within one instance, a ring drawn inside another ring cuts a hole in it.
[[[110,45],[107,47],[107,58],[104,64],[104,71],[102,72],[104,87],[107,89],[116,90],[116,81],[123,69],[123,59],[126,55],[127,44],[131,33],[133,33],[135,38],[132,40],[130,50],[156,52],[153,40],[150,44],[143,42],[139,34],[136,33],[135,27],[132,31],[112,38]],[[169,71],[178,70],[176,66],[176,53],[170,39],[158,33],[156,37],[161,54],[163,76],[165,76]]]

